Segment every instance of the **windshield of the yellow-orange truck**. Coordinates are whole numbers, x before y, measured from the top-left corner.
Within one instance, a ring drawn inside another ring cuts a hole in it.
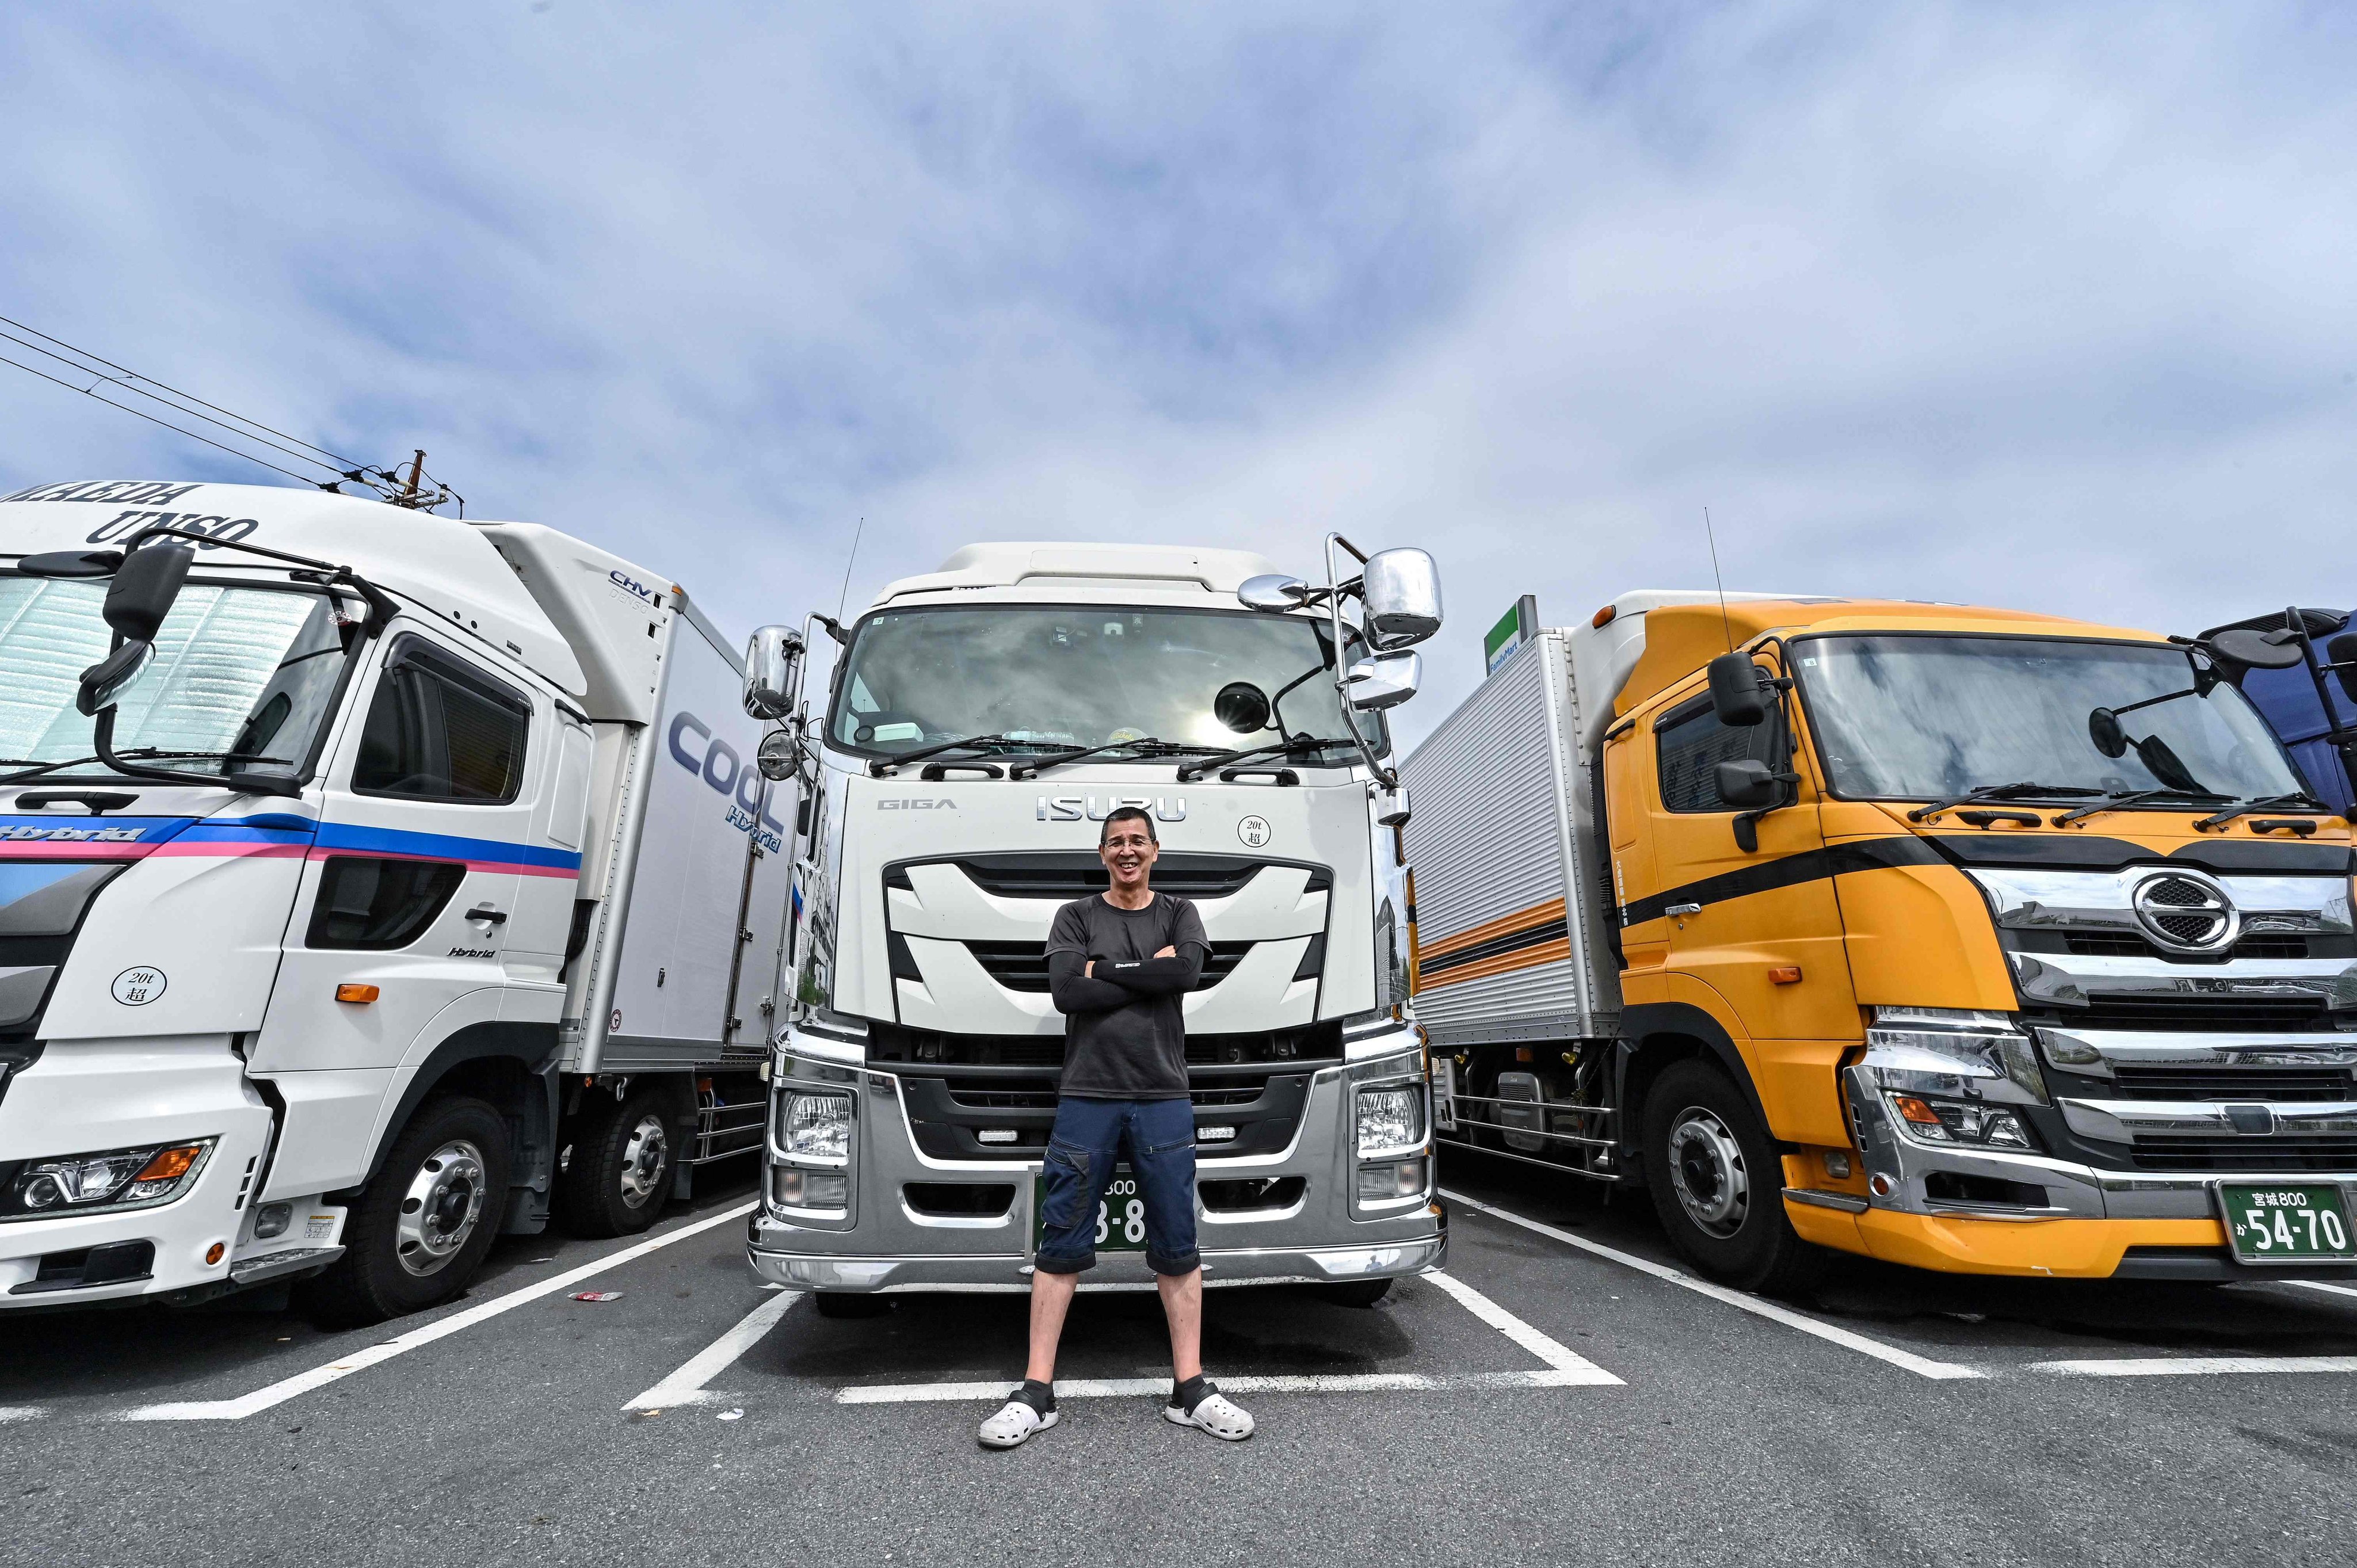
[[[1791,655],[1827,780],[1848,799],[1945,799],[2013,783],[2058,795],[2176,790],[2218,799],[2305,788],[2242,691],[2227,681],[2194,691],[2194,665],[2180,648],[1805,637],[1791,641]],[[2107,755],[2105,740],[2119,755]]]

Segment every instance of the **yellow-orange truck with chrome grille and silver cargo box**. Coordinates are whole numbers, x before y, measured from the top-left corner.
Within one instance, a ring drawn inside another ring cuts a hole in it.
[[[1761,1290],[2357,1273],[2350,828],[2237,689],[2298,658],[1711,592],[1525,634],[1402,769],[1438,1137]]]

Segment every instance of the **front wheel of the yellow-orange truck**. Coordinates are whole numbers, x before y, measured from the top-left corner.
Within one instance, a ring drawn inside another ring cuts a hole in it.
[[[1775,1141],[1706,1061],[1671,1066],[1645,1096],[1645,1186],[1671,1243],[1716,1280],[1782,1294],[1822,1264],[1784,1217]]]

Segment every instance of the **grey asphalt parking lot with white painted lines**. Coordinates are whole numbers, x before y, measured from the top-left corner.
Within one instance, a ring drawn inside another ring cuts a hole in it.
[[[1153,1297],[1084,1294],[1065,1422],[973,1441],[1021,1297],[827,1320],[750,1170],[646,1238],[511,1238],[457,1304],[0,1325],[16,1563],[2357,1561],[2357,1292],[1841,1266],[1692,1280],[1640,1198],[1452,1155],[1445,1276],[1211,1292],[1261,1422],[1160,1419]],[[620,1292],[577,1302],[575,1292]]]

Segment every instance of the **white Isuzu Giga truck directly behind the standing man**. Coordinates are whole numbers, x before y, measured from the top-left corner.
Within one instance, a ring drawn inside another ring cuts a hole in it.
[[[771,764],[813,809],[764,1278],[834,1316],[1028,1290],[1063,1063],[1042,946],[1105,887],[1098,823],[1127,804],[1211,941],[1186,997],[1204,1283],[1374,1302],[1440,1261],[1381,717],[1414,693],[1402,648],[1438,630],[1440,582],[1421,549],[1343,580],[1336,549],[1358,554],[1329,540],[1313,587],[1228,549],[971,545],[851,627],[813,618],[841,641],[823,712],[771,705]],[[1120,1179],[1096,1245],[1091,1283],[1153,1287]]]

